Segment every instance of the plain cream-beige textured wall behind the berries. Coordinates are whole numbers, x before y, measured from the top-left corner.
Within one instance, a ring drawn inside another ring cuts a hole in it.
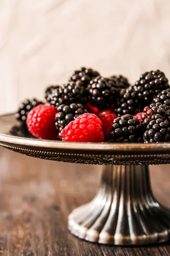
[[[169,0],[0,0],[0,113],[94,67],[170,78]]]

